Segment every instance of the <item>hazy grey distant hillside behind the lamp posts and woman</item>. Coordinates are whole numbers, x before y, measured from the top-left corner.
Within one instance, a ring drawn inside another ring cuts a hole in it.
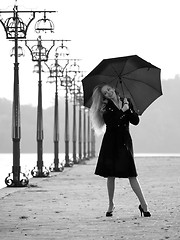
[[[162,81],[163,96],[158,98],[140,117],[138,126],[131,126],[136,153],[179,153],[180,142],[180,76]],[[72,135],[72,104],[69,105],[70,134]],[[11,124],[12,102],[0,98],[0,153],[12,152]],[[37,109],[21,106],[21,152],[36,152]],[[64,98],[59,99],[60,152],[64,152]],[[54,108],[43,111],[44,152],[53,152]],[[78,121],[78,117],[77,117]],[[71,136],[70,136],[71,137]],[[72,137],[71,137],[72,138]],[[101,142],[96,139],[96,149]],[[70,150],[72,143],[70,140]]]

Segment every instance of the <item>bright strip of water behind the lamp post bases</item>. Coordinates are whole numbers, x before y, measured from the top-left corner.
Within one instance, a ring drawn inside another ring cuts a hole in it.
[[[71,154],[70,154],[71,155]],[[59,162],[64,161],[64,154],[59,154]],[[53,153],[43,154],[44,166],[49,169],[50,165],[54,162]],[[9,173],[12,172],[13,155],[12,154],[0,154],[0,189],[6,187],[4,182]],[[37,166],[37,154],[36,153],[22,153],[20,156],[21,172],[25,173],[28,178],[31,178],[30,171]]]

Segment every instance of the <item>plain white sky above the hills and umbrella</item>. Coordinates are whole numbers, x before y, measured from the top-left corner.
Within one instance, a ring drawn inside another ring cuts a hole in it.
[[[14,0],[1,0],[1,10],[12,10]],[[79,61],[80,70],[87,74],[102,59],[139,55],[161,68],[161,79],[180,74],[180,2],[179,0],[17,0],[19,10],[51,10],[47,14],[55,25],[53,34],[42,39],[67,39],[72,58]],[[3,18],[11,15],[1,15]],[[25,21],[24,16],[19,16]],[[26,15],[27,17],[27,15]],[[36,14],[30,24],[27,39],[36,40]],[[10,52],[13,42],[6,39],[0,24],[0,98],[13,98],[14,58]],[[38,74],[35,63],[23,43],[25,56],[19,58],[20,103],[37,105]],[[54,56],[54,49],[50,58]],[[52,61],[49,61],[51,64]],[[85,73],[85,74],[86,74]],[[54,84],[47,83],[43,73],[43,108],[54,104]],[[60,91],[60,94],[64,94]]]

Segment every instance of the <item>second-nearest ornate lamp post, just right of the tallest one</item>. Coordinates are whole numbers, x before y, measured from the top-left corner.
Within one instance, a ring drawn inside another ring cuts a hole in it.
[[[37,45],[29,46],[29,42],[37,41]],[[47,50],[42,45],[42,41],[51,42],[49,49]],[[49,52],[54,46],[54,40],[42,40],[39,36],[37,40],[26,40],[25,45],[30,50],[32,55],[32,61],[38,62],[38,73],[39,73],[39,80],[38,80],[38,107],[37,107],[37,166],[31,171],[33,177],[47,177],[49,176],[49,170],[44,167],[43,164],[43,113],[42,113],[42,62],[46,62],[48,60]]]

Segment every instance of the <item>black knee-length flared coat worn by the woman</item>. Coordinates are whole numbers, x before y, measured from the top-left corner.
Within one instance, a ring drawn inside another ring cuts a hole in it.
[[[109,100],[103,112],[106,132],[95,170],[103,177],[136,177],[137,171],[133,157],[132,139],[129,123],[137,125],[139,117],[129,102],[130,109],[123,112]]]

